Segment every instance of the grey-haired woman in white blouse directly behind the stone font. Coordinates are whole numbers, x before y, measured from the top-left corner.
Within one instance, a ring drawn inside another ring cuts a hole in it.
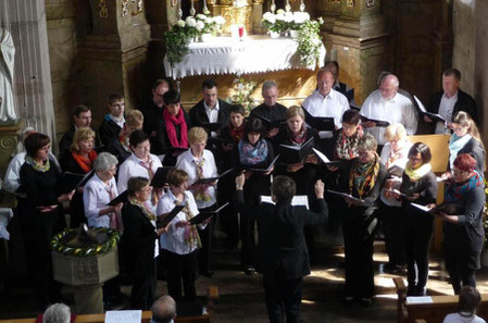
[[[118,196],[114,178],[117,163],[117,159],[109,152],[100,153],[95,160],[95,175],[85,185],[83,192],[85,215],[89,227],[112,227],[122,231],[123,203],[115,207],[107,206]]]

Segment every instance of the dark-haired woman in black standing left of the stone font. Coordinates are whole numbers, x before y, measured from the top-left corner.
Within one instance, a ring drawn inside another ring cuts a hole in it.
[[[51,238],[65,227],[61,202],[72,199],[74,191],[59,194],[61,172],[48,157],[50,139],[32,134],[24,141],[27,154],[21,167],[21,184],[27,195],[25,248],[39,307],[59,300],[60,286],[52,278]]]

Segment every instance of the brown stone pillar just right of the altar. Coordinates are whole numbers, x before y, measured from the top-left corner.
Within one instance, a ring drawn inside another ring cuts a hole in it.
[[[359,104],[377,87],[379,72],[387,69],[389,33],[380,5],[379,0],[341,0],[340,15],[326,36],[340,65],[340,79],[354,87]]]

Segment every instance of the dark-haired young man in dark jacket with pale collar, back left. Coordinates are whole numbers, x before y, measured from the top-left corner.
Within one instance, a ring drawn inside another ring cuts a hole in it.
[[[100,140],[103,146],[107,146],[110,138],[118,137],[118,133],[124,126],[125,119],[125,100],[121,95],[112,94],[108,99],[109,114],[105,114],[100,124]]]

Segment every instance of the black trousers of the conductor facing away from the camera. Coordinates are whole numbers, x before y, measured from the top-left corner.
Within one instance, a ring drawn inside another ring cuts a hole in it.
[[[283,279],[263,275],[264,294],[271,323],[299,323],[303,278]]]

